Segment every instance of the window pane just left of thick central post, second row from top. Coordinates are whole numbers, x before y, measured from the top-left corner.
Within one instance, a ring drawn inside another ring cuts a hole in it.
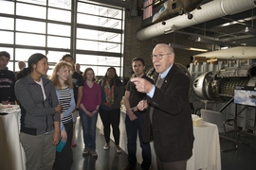
[[[48,19],[70,23],[71,11],[66,11],[66,10],[61,10],[56,8],[48,8]]]

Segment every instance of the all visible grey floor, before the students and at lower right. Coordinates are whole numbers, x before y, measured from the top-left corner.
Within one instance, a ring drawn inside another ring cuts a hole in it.
[[[127,154],[122,152],[118,154],[115,149],[115,144],[111,142],[110,149],[104,150],[104,137],[97,130],[97,152],[98,157],[94,158],[90,155],[83,156],[82,142],[82,127],[80,119],[78,119],[76,127],[76,142],[77,146],[73,147],[73,164],[72,170],[121,170],[127,163]],[[227,134],[233,138],[233,134]],[[238,148],[226,152],[221,152],[222,170],[256,170],[256,136],[240,134],[238,136]],[[220,139],[221,149],[228,149],[235,146],[235,143],[227,139]],[[140,165],[137,163],[137,169]]]

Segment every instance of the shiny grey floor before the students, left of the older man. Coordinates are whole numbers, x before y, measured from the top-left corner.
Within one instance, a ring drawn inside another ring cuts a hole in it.
[[[121,170],[127,164],[127,154],[125,152],[117,153],[116,145],[111,141],[109,150],[104,150],[104,136],[97,129],[96,135],[96,151],[98,157],[91,155],[82,155],[82,127],[78,118],[75,137],[77,146],[73,147],[73,164],[71,170]],[[137,169],[140,165],[137,163]]]

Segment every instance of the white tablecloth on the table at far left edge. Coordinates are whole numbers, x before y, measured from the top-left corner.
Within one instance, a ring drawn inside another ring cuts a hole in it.
[[[0,115],[0,169],[25,170],[25,154],[20,144],[20,109]]]

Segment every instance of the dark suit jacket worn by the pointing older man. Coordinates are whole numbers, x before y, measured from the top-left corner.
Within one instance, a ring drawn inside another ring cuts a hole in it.
[[[155,75],[155,81],[158,74]],[[152,126],[149,109],[144,123],[143,142],[149,142],[153,131],[155,154],[160,161],[184,161],[192,156],[193,129],[189,101],[190,79],[175,64],[161,88],[155,87]]]

